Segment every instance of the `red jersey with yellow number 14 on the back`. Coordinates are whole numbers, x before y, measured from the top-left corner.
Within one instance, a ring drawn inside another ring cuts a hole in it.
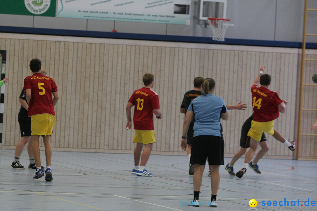
[[[253,106],[253,121],[273,121],[280,116],[278,105],[283,101],[278,94],[265,87],[257,87],[254,84],[251,87],[252,106]]]

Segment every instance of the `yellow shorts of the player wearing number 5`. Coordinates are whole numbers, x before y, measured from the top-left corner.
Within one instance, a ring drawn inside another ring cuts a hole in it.
[[[55,116],[51,114],[36,114],[31,116],[31,135],[52,135]]]

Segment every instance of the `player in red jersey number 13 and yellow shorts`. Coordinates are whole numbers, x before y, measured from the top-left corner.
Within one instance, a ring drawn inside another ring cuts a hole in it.
[[[159,110],[159,96],[152,91],[155,84],[154,75],[146,73],[143,76],[144,87],[135,90],[126,105],[126,129],[131,128],[131,108],[134,107],[133,124],[135,135],[133,143],[137,143],[134,149],[134,168],[132,174],[137,176],[152,177],[153,174],[145,170],[146,162],[148,161],[153,143],[155,143],[155,134],[153,126],[153,113],[157,119],[162,118],[162,113]],[[141,151],[144,145],[144,151],[141,157]],[[141,158],[141,163],[140,163]]]

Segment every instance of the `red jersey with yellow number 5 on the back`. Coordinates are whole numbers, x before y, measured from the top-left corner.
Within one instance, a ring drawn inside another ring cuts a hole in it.
[[[24,92],[31,90],[28,116],[51,114],[55,116],[52,93],[57,92],[55,81],[41,73],[35,73],[24,79]]]

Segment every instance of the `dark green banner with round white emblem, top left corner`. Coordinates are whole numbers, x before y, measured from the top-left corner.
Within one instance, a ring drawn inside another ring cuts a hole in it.
[[[56,0],[0,0],[0,14],[55,17]]]

